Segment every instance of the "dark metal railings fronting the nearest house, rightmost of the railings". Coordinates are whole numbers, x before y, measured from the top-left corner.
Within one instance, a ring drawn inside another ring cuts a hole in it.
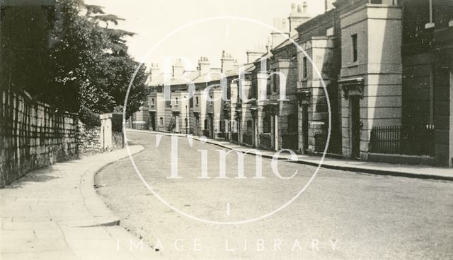
[[[375,126],[371,131],[371,153],[434,155],[434,126]]]

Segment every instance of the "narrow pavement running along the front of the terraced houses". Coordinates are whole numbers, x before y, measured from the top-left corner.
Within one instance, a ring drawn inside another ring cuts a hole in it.
[[[133,130],[127,129],[127,131],[137,131],[148,134],[162,134],[162,135],[176,135],[176,136],[186,136],[185,134],[171,134],[171,133],[162,133],[154,131],[144,131],[144,130]],[[200,136],[193,136],[193,139],[200,141]],[[207,138],[207,143],[212,143],[216,146],[222,148],[237,150],[240,152],[246,152],[252,148],[246,146],[239,146],[228,141],[219,141]],[[269,150],[260,150],[260,153],[264,158],[273,158],[275,152]],[[250,154],[256,154],[251,152]],[[289,154],[285,153],[277,157],[279,160],[289,160]],[[313,165],[318,166],[321,162],[321,156],[314,155],[297,155],[297,161],[295,163],[300,163],[304,165]],[[346,159],[336,159],[336,158],[324,158],[321,167],[333,169],[333,170],[346,170],[351,172],[363,172],[373,175],[391,175],[391,176],[401,176],[401,177],[411,177],[411,178],[420,178],[420,179],[440,179],[453,181],[453,169],[447,167],[432,167],[427,165],[403,165],[403,164],[389,164],[382,162],[362,162],[358,160],[346,160]]]

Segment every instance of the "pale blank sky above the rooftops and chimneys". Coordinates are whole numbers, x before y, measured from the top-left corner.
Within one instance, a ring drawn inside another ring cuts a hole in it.
[[[117,28],[137,33],[128,40],[129,52],[148,67],[151,62],[164,67],[164,57],[186,57],[196,68],[200,57],[208,57],[211,67],[220,67],[222,50],[246,62],[248,49],[264,46],[273,18],[287,18],[291,3],[302,0],[85,0],[104,6],[105,13],[124,18]],[[323,13],[323,0],[308,0],[312,16]],[[238,20],[229,17],[240,17]],[[196,23],[207,18],[218,18]],[[194,24],[195,23],[195,24]],[[168,37],[168,35],[170,35]],[[158,43],[160,45],[158,46]],[[149,53],[152,49],[152,52]],[[147,55],[148,54],[148,55]]]

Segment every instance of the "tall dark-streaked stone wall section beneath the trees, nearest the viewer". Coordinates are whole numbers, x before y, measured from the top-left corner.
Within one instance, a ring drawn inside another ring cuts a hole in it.
[[[0,187],[30,170],[76,157],[76,122],[76,114],[1,91]]]

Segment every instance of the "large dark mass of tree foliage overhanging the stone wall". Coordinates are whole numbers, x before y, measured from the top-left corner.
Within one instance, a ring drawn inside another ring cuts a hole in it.
[[[27,90],[33,98],[62,110],[81,114],[84,108],[98,114],[122,112],[127,87],[138,65],[127,54],[126,40],[134,33],[109,28],[123,19],[82,0],[60,0],[55,6],[24,10],[2,11],[2,39],[6,36],[2,49],[13,49],[1,53],[7,58],[2,59],[9,61],[1,64],[1,73],[10,75],[2,77],[2,85]],[[11,67],[13,73],[7,71]],[[145,70],[143,66],[134,78],[127,98],[127,117],[146,98]],[[11,75],[15,81],[11,81]]]

